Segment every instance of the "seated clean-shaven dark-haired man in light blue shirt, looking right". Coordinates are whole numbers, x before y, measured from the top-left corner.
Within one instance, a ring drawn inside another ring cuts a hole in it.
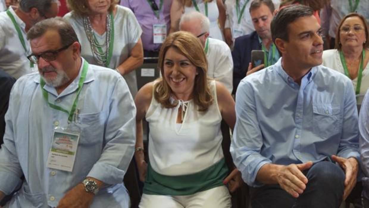
[[[253,208],[337,208],[360,160],[354,89],[320,65],[321,27],[310,7],[282,8],[271,30],[282,58],[242,79],[232,157],[252,186]]]

